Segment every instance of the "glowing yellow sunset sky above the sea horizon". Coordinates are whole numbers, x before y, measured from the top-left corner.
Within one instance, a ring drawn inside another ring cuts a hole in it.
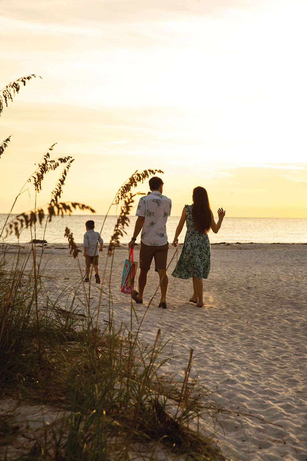
[[[306,218],[306,15],[306,0],[1,0],[0,88],[42,79],[0,117],[0,213],[57,142],[75,158],[63,200],[98,214],[158,168],[173,215],[202,185],[215,215]],[[33,206],[30,188],[15,211]]]

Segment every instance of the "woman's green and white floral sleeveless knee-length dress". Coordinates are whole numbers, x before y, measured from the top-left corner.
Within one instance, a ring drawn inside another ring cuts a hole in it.
[[[186,234],[180,258],[172,273],[173,277],[208,278],[210,271],[210,242],[207,233],[198,232],[192,218],[192,205],[185,205]]]

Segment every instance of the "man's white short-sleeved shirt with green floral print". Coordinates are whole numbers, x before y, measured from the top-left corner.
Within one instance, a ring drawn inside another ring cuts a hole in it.
[[[166,221],[171,214],[171,208],[172,201],[157,190],[139,199],[135,215],[145,217],[141,242],[154,247],[165,245],[168,242]]]

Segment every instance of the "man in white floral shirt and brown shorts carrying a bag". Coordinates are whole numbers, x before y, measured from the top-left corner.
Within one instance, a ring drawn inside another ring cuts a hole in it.
[[[149,180],[151,193],[139,199],[133,237],[129,248],[133,248],[136,237],[141,232],[141,248],[139,251],[139,292],[134,290],[133,300],[141,304],[147,283],[147,273],[151,268],[152,258],[155,259],[155,271],[160,278],[161,300],[159,307],[167,308],[166,294],[168,291],[168,274],[166,263],[168,258],[168,236],[166,222],[171,213],[172,201],[162,195],[163,181],[160,177]]]

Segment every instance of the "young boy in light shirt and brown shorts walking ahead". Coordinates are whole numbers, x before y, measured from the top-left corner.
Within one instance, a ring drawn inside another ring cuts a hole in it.
[[[84,253],[83,256],[85,257],[85,282],[90,281],[90,268],[91,264],[93,264],[93,268],[95,271],[95,278],[96,284],[100,284],[100,277],[99,277],[99,267],[98,267],[98,242],[99,251],[103,250],[104,241],[100,237],[99,232],[95,232],[95,223],[92,220],[89,220],[85,223],[86,233],[83,236],[83,249]]]

